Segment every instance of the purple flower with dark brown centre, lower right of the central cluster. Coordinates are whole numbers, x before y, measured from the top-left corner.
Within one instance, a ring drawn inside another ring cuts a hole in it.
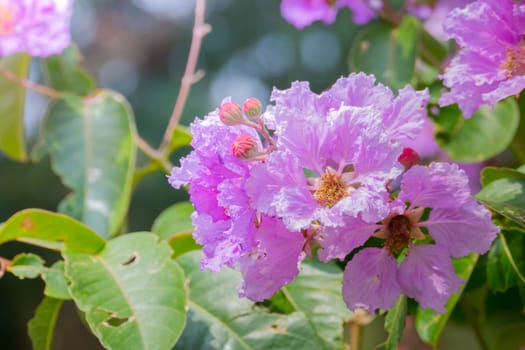
[[[404,293],[422,308],[444,312],[462,284],[450,257],[485,253],[498,231],[490,212],[470,196],[465,173],[455,164],[432,163],[403,175],[399,195],[379,224],[355,220],[345,231],[331,232],[320,241],[319,256],[341,258],[341,250],[353,250],[371,236],[382,238],[383,248],[365,248],[346,266],[343,297],[348,307],[388,309]],[[429,238],[434,243],[421,243]]]

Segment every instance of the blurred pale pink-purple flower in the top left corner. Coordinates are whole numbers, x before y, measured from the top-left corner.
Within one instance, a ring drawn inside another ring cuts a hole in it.
[[[71,0],[0,1],[0,56],[47,57],[70,43]]]

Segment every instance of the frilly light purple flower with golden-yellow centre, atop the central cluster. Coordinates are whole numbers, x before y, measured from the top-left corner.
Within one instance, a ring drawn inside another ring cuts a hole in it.
[[[274,90],[264,114],[277,151],[255,165],[247,193],[255,207],[292,231],[345,217],[376,222],[387,214],[386,182],[399,175],[404,140],[417,134],[428,92],[406,87],[394,98],[375,78],[351,74],[317,95],[307,83]]]

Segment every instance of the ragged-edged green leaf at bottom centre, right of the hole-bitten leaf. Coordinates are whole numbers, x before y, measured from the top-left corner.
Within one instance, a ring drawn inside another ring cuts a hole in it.
[[[201,271],[201,252],[179,257],[189,279],[188,325],[175,349],[326,348],[302,312],[272,314],[237,296],[239,274]]]

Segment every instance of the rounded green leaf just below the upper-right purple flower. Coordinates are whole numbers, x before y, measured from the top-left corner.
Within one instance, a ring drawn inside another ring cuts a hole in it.
[[[481,162],[506,149],[518,128],[520,112],[513,99],[483,106],[470,119],[457,105],[441,108],[435,118],[437,141],[458,162]]]

